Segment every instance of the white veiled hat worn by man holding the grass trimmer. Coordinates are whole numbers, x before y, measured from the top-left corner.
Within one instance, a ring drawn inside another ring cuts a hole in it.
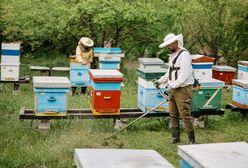
[[[183,47],[183,35],[175,35],[174,33],[170,33],[164,38],[164,42],[159,45],[159,48],[164,48],[168,46],[169,44],[178,41],[178,47],[182,48]]]

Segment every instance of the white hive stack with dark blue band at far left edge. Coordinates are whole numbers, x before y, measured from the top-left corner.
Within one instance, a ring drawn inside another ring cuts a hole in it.
[[[2,43],[1,80],[19,81],[20,43]]]

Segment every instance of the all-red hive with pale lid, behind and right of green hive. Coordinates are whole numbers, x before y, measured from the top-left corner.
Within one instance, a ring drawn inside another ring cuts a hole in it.
[[[213,78],[231,85],[234,79],[236,69],[230,66],[213,66]]]

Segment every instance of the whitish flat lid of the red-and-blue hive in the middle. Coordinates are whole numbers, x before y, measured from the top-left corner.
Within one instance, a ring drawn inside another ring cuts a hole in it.
[[[115,69],[91,69],[93,78],[123,78],[123,74]]]

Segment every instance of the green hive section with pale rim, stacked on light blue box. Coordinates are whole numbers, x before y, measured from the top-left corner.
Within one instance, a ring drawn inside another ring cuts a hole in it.
[[[167,72],[165,68],[137,68],[137,75],[145,80],[159,79],[161,76],[164,76]]]

